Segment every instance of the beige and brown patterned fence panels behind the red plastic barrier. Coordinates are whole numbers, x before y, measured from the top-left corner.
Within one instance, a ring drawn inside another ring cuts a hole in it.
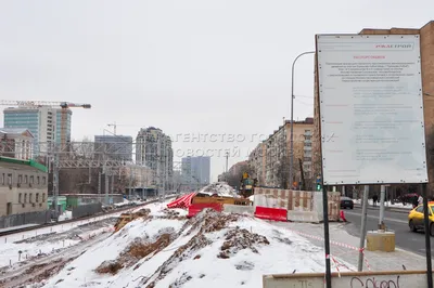
[[[339,221],[341,193],[328,192],[328,199],[329,221]],[[255,188],[255,207],[285,209],[289,221],[321,222],[322,202],[322,192]]]

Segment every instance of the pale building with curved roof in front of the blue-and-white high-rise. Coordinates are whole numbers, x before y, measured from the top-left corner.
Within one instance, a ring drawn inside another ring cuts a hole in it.
[[[21,160],[34,158],[35,138],[28,129],[0,128],[0,155]]]

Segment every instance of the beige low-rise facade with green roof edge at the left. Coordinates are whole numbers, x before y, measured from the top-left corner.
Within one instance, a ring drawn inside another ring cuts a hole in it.
[[[0,217],[47,210],[47,168],[0,157]]]

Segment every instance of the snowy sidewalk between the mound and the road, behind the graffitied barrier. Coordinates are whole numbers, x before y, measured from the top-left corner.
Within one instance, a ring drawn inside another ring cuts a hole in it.
[[[324,247],[322,224],[292,222],[272,222],[272,224],[297,232],[312,245]],[[344,225],[346,224],[330,223],[330,253],[337,260],[353,265],[357,271],[359,238],[349,235]],[[404,266],[406,270],[426,270],[424,257],[398,248],[394,252],[365,250],[365,258],[363,271],[401,271]]]

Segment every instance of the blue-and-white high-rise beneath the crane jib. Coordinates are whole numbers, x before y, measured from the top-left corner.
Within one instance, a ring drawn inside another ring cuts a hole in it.
[[[71,109],[66,110],[66,142],[71,141]],[[34,155],[47,153],[48,145],[40,143],[61,143],[62,109],[50,106],[9,107],[3,110],[4,128],[28,129],[35,138]]]

